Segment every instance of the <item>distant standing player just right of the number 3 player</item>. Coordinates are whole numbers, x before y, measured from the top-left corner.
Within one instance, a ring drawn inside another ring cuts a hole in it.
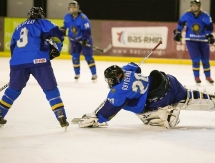
[[[69,3],[68,9],[69,13],[64,16],[64,25],[61,27],[61,30],[64,32],[64,35],[66,35],[66,29],[68,28],[68,36],[71,43],[70,54],[72,55],[75,72],[74,78],[76,81],[80,78],[80,55],[82,52],[90,68],[92,74],[91,79],[93,82],[96,82],[97,74],[95,60],[93,58],[93,40],[91,37],[90,20],[79,10],[77,1]],[[90,45],[90,47],[87,45]]]

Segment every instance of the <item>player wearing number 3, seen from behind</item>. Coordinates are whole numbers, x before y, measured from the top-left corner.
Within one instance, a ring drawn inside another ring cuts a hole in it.
[[[69,125],[50,62],[60,55],[63,33],[44,17],[41,7],[32,7],[28,19],[19,24],[12,35],[9,87],[0,100],[1,125],[6,124],[5,115],[21,94],[30,75],[34,76],[45,93],[61,127]]]

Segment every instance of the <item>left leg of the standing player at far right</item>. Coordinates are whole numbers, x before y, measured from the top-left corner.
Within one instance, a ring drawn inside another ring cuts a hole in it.
[[[201,51],[199,42],[195,41],[186,41],[187,49],[192,60],[193,74],[196,83],[201,83],[200,80],[200,60],[201,60]]]

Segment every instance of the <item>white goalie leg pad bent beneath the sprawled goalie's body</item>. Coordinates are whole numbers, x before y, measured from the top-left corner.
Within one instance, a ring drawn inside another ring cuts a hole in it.
[[[180,108],[170,105],[159,108],[156,111],[137,114],[144,124],[151,126],[162,126],[167,129],[176,126],[179,120]]]

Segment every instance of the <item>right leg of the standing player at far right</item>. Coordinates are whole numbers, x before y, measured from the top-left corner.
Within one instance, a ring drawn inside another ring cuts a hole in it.
[[[214,83],[214,80],[211,78],[211,69],[210,69],[210,46],[208,43],[203,42],[201,43],[201,59],[202,59],[202,65],[203,65],[203,70],[204,74],[206,77],[206,80],[209,83]]]

